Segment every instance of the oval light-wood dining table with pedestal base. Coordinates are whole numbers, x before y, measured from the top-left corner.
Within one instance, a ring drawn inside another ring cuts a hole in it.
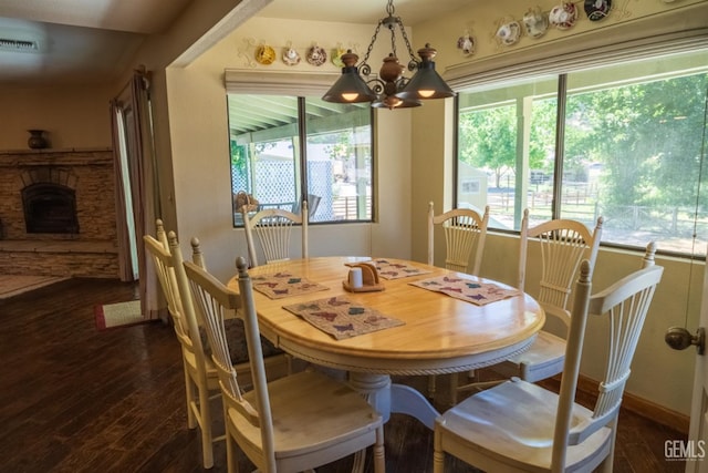
[[[392,374],[444,374],[483,368],[506,360],[531,345],[543,327],[545,315],[525,294],[485,306],[412,286],[436,276],[460,276],[472,281],[489,279],[449,271],[417,261],[387,259],[427,274],[381,279],[384,290],[350,292],[343,288],[347,263],[363,257],[321,257],[272,263],[249,270],[251,277],[289,273],[329,289],[271,299],[254,292],[261,333],[277,347],[302,360],[348,371],[350,383],[388,420],[392,412],[415,417],[429,429],[439,413],[415,389],[392,384]],[[235,278],[229,288],[238,291]],[[337,340],[283,306],[344,296],[374,308],[405,325]]]

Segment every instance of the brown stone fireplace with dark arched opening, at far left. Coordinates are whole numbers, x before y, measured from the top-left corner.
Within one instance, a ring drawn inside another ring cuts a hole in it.
[[[117,277],[111,150],[0,152],[0,274]]]

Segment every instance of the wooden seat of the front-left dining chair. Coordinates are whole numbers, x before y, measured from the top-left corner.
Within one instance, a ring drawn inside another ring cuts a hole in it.
[[[347,441],[361,442],[361,449],[365,449],[374,443],[376,429],[383,423],[381,415],[358,393],[317,371],[299,372],[269,382],[268,391],[279,461],[317,454]],[[243,397],[256,404],[254,391]],[[260,451],[260,430],[233,409],[229,410],[229,417],[249,446],[254,445]],[[331,449],[333,456],[322,456],[319,464],[336,460],[336,450]]]

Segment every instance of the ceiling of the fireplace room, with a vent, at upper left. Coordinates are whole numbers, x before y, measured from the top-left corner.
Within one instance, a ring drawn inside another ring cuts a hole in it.
[[[131,64],[143,40],[165,31],[191,0],[2,0],[0,39],[37,50],[0,47],[0,83],[100,83]]]

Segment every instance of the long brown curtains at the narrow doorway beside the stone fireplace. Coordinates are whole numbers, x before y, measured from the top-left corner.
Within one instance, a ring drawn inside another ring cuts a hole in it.
[[[166,319],[166,305],[143,245],[143,235],[155,229],[160,214],[149,84],[149,73],[136,71],[111,101],[118,267],[121,280],[138,279],[144,317]]]

